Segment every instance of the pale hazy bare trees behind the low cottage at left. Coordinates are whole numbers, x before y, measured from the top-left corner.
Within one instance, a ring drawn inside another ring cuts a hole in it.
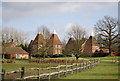
[[[12,27],[3,27],[1,32],[2,40],[6,41],[6,43],[9,43],[12,39],[14,39],[16,45],[24,44],[24,41],[27,40],[27,37],[27,33],[21,30],[18,31]]]

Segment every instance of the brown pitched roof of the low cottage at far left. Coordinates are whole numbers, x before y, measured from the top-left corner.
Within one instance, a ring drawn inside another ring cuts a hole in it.
[[[21,47],[6,47],[5,49],[5,53],[6,54],[28,54],[25,50],[23,50]]]

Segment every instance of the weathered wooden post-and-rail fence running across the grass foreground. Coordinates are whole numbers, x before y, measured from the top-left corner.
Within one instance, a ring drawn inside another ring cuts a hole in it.
[[[6,79],[5,77],[7,75],[10,74],[16,74],[19,73],[20,77],[19,78],[15,78],[15,80],[25,80],[25,79],[30,79],[30,78],[37,78],[37,79],[55,79],[55,78],[60,78],[62,76],[67,76],[68,74],[73,74],[75,72],[81,72],[87,69],[91,69],[93,67],[95,67],[98,63],[100,62],[100,60],[98,59],[94,59],[94,60],[89,60],[89,61],[85,61],[83,63],[73,63],[70,65],[67,65],[67,63],[65,65],[58,65],[57,67],[48,67],[48,68],[25,68],[25,67],[21,67],[20,70],[15,70],[15,71],[11,71],[11,72],[6,72],[5,69],[2,69],[2,73],[1,73],[1,77],[2,80]],[[27,71],[32,71],[34,70],[35,72],[37,72],[36,75],[29,75],[29,76],[25,76],[25,73]],[[42,70],[45,70],[45,72],[41,72]],[[54,72],[52,72],[52,70],[54,70]]]

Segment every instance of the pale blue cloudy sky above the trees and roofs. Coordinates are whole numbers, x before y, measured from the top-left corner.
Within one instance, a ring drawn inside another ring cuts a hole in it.
[[[2,27],[27,32],[28,41],[35,38],[37,28],[42,25],[51,33],[56,30],[63,40],[72,24],[80,25],[91,35],[99,19],[118,18],[118,2],[2,2],[0,5]]]

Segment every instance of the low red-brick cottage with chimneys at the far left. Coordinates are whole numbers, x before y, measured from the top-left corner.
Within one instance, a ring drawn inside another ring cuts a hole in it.
[[[13,39],[11,40],[10,43],[6,43],[3,41],[3,46],[2,46],[2,53],[3,53],[3,58],[8,58],[8,59],[28,59],[29,54],[23,50],[21,47],[16,47]]]

